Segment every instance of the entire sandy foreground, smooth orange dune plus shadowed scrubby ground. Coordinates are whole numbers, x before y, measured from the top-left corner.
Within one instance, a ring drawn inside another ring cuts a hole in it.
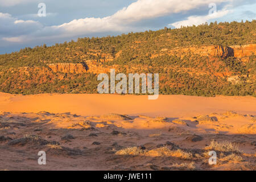
[[[0,169],[255,170],[255,108],[249,96],[0,93]]]

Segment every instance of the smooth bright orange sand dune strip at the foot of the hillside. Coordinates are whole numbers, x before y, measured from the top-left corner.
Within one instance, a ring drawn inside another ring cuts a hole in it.
[[[108,113],[145,114],[152,117],[192,117],[227,110],[256,115],[255,97],[119,96],[108,94],[38,94],[30,96],[0,93],[0,111],[100,115]]]

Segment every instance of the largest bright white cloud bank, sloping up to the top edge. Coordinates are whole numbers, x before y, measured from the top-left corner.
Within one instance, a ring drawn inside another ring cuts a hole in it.
[[[226,0],[216,0],[223,2]],[[212,0],[183,0],[177,3],[175,0],[138,0],[131,5],[124,7],[117,13],[104,18],[75,19],[55,28],[60,28],[70,35],[104,31],[127,31],[131,29],[130,23],[143,19],[157,18],[172,13],[180,13],[195,9],[200,6],[207,6]]]

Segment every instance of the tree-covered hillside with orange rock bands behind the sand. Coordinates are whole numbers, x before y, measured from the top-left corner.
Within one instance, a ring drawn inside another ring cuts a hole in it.
[[[97,93],[97,73],[90,71],[95,65],[115,66],[122,73],[159,73],[160,94],[255,97],[255,46],[250,46],[255,36],[253,20],[23,48],[0,55],[0,92]],[[49,67],[60,63],[81,63],[88,72]]]

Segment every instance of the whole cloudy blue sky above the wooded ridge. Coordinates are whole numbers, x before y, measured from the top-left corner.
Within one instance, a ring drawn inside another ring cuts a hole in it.
[[[0,54],[77,38],[255,17],[255,0],[0,0]]]

